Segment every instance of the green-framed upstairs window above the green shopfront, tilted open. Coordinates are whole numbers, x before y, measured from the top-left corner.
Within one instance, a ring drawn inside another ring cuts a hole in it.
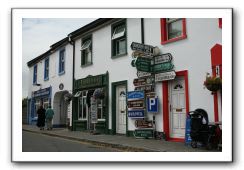
[[[92,64],[92,39],[91,37],[82,40],[81,66]]]

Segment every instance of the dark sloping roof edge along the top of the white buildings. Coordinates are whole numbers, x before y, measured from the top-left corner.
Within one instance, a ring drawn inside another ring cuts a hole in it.
[[[98,27],[98,26],[100,26],[100,25],[102,25],[102,24],[104,24],[104,23],[106,23],[108,21],[111,21],[112,19],[113,18],[99,18],[99,19],[97,19],[97,20],[95,20],[95,21],[93,21],[93,22],[91,22],[91,23],[89,23],[89,24],[87,24],[87,25],[85,25],[85,26],[83,26],[83,27],[71,32],[70,34],[68,34],[68,36],[66,38],[64,38],[64,39],[52,44],[48,51],[46,51],[45,53],[39,55],[38,57],[30,60],[29,62],[27,62],[27,66],[31,67],[34,64],[36,64],[38,61],[44,59],[45,57],[50,55],[54,50],[56,50],[57,48],[59,48],[63,44],[68,43],[69,38],[74,39],[74,38],[78,37],[79,35],[81,35],[82,33],[85,33],[85,32],[87,32],[87,31],[89,31],[89,30],[91,30],[93,28],[96,28],[96,27]]]

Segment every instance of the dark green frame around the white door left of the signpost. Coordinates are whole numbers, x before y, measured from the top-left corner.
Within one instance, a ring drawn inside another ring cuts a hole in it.
[[[112,83],[112,129],[111,132],[113,135],[116,134],[116,87],[119,85],[125,85],[126,92],[128,91],[127,80],[118,81]],[[127,98],[126,98],[127,100]],[[127,101],[126,101],[127,103]],[[126,109],[126,136],[128,136],[128,111]]]

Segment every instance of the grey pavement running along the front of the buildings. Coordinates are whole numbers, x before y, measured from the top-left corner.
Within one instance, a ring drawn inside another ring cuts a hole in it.
[[[70,140],[88,142],[95,145],[114,147],[125,151],[139,152],[207,152],[205,148],[194,149],[180,142],[168,142],[155,139],[136,139],[120,135],[92,135],[88,132],[70,131],[64,128],[54,128],[52,131],[39,130],[34,125],[22,125],[23,131],[40,133]]]

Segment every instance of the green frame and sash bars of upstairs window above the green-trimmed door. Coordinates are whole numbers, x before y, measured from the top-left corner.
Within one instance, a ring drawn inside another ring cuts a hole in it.
[[[116,32],[116,29],[121,26],[124,25],[124,35],[123,36],[119,36],[117,38],[113,38]],[[117,42],[125,39],[125,52],[122,54],[118,54],[117,53]],[[114,24],[111,25],[111,58],[118,58],[118,57],[122,57],[122,56],[126,56],[127,55],[127,22],[126,19],[122,19]]]

